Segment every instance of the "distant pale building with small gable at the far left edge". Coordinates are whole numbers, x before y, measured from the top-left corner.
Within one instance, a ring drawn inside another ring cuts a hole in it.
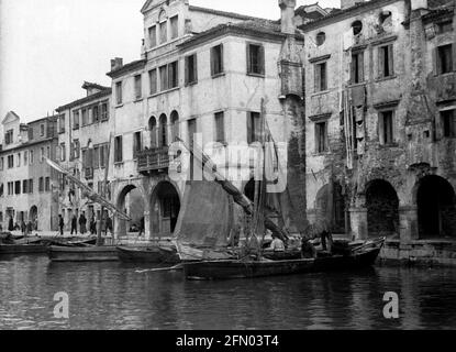
[[[54,201],[56,174],[45,157],[54,158],[57,145],[56,117],[27,124],[10,111],[2,121],[0,140],[0,226],[32,221],[33,229],[57,229]]]

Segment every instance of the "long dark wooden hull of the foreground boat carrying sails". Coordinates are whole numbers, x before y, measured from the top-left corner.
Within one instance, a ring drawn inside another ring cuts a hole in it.
[[[330,272],[369,267],[374,265],[379,253],[380,249],[377,248],[351,256],[334,255],[291,261],[211,261],[185,263],[183,271],[188,279],[233,279]]]

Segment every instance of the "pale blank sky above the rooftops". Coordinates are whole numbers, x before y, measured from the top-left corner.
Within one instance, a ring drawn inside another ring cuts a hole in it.
[[[340,0],[298,0],[340,7]],[[0,0],[0,121],[33,121],[82,98],[85,80],[110,86],[110,59],[141,57],[145,0]],[[190,0],[190,4],[266,19],[277,0]]]

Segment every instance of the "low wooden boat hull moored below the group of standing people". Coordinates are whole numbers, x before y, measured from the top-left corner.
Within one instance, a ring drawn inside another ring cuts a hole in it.
[[[52,262],[116,262],[115,246],[65,248],[52,245],[47,252]]]

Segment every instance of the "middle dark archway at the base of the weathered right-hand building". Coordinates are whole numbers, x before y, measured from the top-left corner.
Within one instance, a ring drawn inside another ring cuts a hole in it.
[[[390,183],[376,179],[366,187],[369,237],[399,234],[399,198]]]

